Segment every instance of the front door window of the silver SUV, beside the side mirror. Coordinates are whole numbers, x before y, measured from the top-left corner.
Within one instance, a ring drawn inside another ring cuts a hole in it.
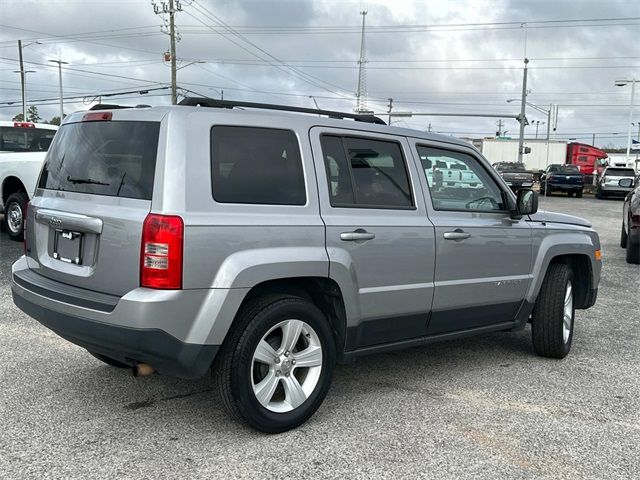
[[[418,146],[436,210],[503,211],[498,185],[471,155]]]

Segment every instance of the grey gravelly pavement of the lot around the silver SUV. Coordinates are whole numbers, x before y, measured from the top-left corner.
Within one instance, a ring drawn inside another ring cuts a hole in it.
[[[595,307],[571,354],[536,357],[530,329],[339,366],[323,406],[269,436],[232,422],[210,379],[134,378],[11,301],[22,246],[0,236],[2,478],[640,478],[640,268],[622,203],[541,199],[599,231]]]

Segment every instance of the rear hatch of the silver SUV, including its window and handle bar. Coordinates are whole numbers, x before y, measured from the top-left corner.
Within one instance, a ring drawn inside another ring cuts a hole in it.
[[[25,247],[30,268],[45,277],[123,295],[139,286],[160,121],[112,115],[89,112],[60,127],[29,207]]]

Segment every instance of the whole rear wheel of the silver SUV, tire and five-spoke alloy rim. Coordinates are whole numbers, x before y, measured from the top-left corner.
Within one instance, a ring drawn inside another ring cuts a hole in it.
[[[227,411],[267,433],[304,423],[326,396],[336,346],[326,316],[298,297],[267,296],[238,314],[214,375]]]

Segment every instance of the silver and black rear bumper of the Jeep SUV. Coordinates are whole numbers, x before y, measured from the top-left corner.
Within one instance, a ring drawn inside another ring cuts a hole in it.
[[[242,289],[136,289],[114,297],[43,277],[24,257],[13,265],[11,290],[18,308],[66,340],[181,378],[208,371],[242,299]]]

